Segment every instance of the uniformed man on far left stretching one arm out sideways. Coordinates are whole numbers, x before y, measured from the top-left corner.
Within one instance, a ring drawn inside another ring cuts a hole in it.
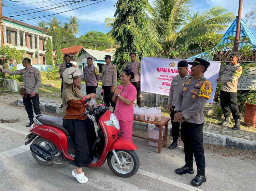
[[[34,107],[35,115],[41,114],[38,96],[38,89],[41,84],[41,77],[40,71],[37,68],[31,66],[30,58],[24,58],[22,60],[22,65],[25,68],[20,70],[10,71],[0,68],[0,71],[11,75],[22,75],[24,83],[23,88],[25,89],[25,94],[23,95],[23,104],[25,106],[29,118],[29,123],[26,125],[26,127],[30,127],[34,123],[32,104]]]

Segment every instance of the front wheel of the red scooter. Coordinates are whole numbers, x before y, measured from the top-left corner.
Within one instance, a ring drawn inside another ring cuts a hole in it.
[[[115,175],[126,178],[136,174],[140,161],[135,151],[116,150],[116,155],[121,162],[120,166],[112,152],[108,156],[108,166]]]

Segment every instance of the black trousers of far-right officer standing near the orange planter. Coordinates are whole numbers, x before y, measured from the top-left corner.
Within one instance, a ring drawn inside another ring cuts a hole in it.
[[[224,114],[224,117],[228,117],[230,115],[230,110],[233,116],[233,119],[241,119],[239,115],[239,108],[237,105],[237,93],[236,92],[228,92],[221,90],[221,108]]]

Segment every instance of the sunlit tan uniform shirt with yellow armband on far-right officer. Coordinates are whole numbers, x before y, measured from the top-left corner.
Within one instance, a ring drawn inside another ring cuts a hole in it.
[[[221,78],[221,90],[222,91],[228,91],[228,92],[237,92],[237,84],[238,84],[238,79],[240,75],[243,72],[243,68],[239,65],[232,65],[229,64],[223,68],[219,72],[219,76],[222,76]]]

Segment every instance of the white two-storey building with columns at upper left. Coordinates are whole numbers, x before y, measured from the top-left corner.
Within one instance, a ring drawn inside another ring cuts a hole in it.
[[[52,41],[52,36],[43,34],[43,32],[46,30],[3,17],[3,44],[15,47],[17,50],[25,50],[25,56],[31,58],[33,65],[45,64],[45,41],[48,38]]]

